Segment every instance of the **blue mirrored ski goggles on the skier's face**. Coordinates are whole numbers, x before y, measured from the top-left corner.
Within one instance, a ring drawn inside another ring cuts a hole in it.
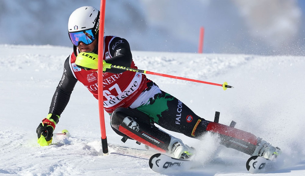
[[[71,42],[75,46],[78,46],[80,42],[89,45],[95,40],[95,35],[93,34],[93,32],[93,29],[78,32],[69,32],[69,37]]]

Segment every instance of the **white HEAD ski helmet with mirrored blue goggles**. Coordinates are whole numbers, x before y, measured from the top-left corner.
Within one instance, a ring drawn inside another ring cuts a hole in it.
[[[72,12],[68,22],[68,33],[72,43],[75,46],[79,42],[90,44],[93,42],[99,32],[99,10],[91,6],[83,6]],[[78,36],[73,36],[77,35]],[[80,36],[83,34],[85,36]],[[75,38],[74,38],[75,37]],[[76,40],[74,40],[76,39]],[[85,40],[89,40],[85,42]]]

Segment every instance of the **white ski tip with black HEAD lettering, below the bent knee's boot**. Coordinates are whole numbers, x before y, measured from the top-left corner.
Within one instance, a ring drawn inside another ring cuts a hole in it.
[[[192,167],[192,161],[157,153],[150,157],[149,167],[158,173],[173,170],[187,170]]]

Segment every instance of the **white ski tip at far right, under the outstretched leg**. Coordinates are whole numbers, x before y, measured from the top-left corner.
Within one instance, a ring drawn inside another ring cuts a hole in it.
[[[252,156],[246,162],[246,168],[251,174],[263,173],[273,170],[274,161],[260,156]]]

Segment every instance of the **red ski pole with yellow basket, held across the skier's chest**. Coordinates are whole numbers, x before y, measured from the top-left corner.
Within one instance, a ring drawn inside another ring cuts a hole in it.
[[[163,77],[168,77],[168,78],[174,78],[174,79],[178,79],[178,80],[186,80],[186,81],[192,81],[192,82],[197,82],[197,83],[210,84],[210,85],[214,85],[214,86],[221,86],[223,88],[223,90],[227,90],[227,88],[234,88],[233,86],[228,86],[227,82],[224,82],[223,84],[217,84],[217,83],[210,83],[210,82],[206,82],[206,81],[183,78],[183,77],[179,77],[179,76],[172,76],[172,75],[167,75],[167,74],[162,74],[162,73],[155,73],[155,72],[146,71],[146,70],[133,69],[133,68],[124,67],[124,66],[116,66],[116,65],[112,65],[112,64],[108,64],[108,63],[104,64],[104,65],[106,66],[106,68],[110,67],[110,68],[116,68],[116,69],[131,71],[131,72],[139,72],[139,73],[163,76]]]

